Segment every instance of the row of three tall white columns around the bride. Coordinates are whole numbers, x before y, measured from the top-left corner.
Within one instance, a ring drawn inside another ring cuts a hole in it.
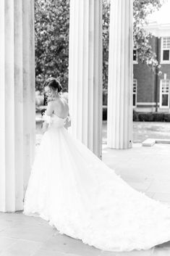
[[[0,212],[23,209],[35,149],[33,0],[0,4]],[[102,0],[70,0],[72,135],[101,157]],[[108,145],[132,146],[132,0],[111,0]]]

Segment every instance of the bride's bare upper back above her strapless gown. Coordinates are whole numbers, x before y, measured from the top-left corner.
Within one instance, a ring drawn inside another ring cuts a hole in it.
[[[55,101],[53,101],[54,115],[58,117],[65,118],[69,114],[69,106],[67,100],[59,96]]]

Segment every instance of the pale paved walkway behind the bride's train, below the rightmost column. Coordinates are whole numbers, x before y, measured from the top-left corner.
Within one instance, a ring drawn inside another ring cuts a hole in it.
[[[115,150],[103,146],[103,161],[130,186],[170,204],[170,144]]]

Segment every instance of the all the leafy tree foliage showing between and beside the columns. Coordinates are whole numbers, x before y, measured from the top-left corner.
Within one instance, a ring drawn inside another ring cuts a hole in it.
[[[161,7],[161,0],[134,0],[134,45],[138,57],[152,67],[158,62],[141,27],[148,14]],[[103,88],[108,83],[109,0],[103,0]],[[69,0],[35,0],[35,77],[36,88],[43,88],[48,76],[68,84]]]

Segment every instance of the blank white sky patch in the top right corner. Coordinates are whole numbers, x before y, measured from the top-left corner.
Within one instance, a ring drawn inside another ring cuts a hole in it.
[[[157,21],[158,24],[170,23],[170,0],[165,0],[165,3],[157,12],[154,12],[150,17],[150,21]]]

